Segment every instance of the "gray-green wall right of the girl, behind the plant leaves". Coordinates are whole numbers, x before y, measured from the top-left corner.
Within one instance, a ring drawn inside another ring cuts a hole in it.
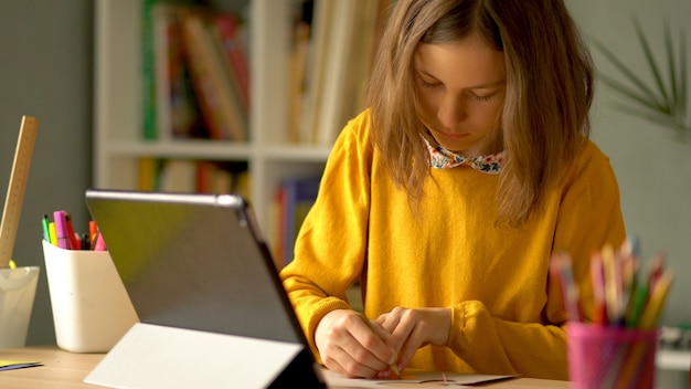
[[[687,43],[691,43],[688,0],[567,0],[567,4],[586,39],[597,39],[616,51],[650,84],[653,78],[631,18],[636,17],[649,35],[660,66],[666,63],[665,20],[670,22],[676,40],[685,28]],[[592,53],[603,74],[620,74],[598,51],[593,49]],[[691,78],[691,71],[687,74]],[[594,139],[610,157],[617,174],[627,232],[639,236],[644,259],[662,250],[677,273],[662,323],[691,324],[691,143],[678,141],[669,128],[614,109],[619,99],[604,84],[597,85],[596,96]]]

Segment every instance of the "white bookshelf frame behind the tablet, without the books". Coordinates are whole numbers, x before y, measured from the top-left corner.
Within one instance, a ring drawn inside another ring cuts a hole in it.
[[[95,18],[94,182],[135,189],[143,157],[246,161],[251,201],[264,230],[280,179],[321,172],[330,147],[287,143],[289,1],[219,0],[222,9],[249,7],[251,139],[246,144],[141,136],[141,2],[97,0]]]

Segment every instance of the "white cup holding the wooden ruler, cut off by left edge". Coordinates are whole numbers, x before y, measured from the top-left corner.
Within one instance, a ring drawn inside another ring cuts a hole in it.
[[[39,266],[0,269],[0,348],[24,347]]]

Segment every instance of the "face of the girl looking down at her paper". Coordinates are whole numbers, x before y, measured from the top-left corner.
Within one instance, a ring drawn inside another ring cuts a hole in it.
[[[479,38],[417,48],[414,60],[419,115],[434,139],[466,157],[491,150],[506,93],[503,53]]]

